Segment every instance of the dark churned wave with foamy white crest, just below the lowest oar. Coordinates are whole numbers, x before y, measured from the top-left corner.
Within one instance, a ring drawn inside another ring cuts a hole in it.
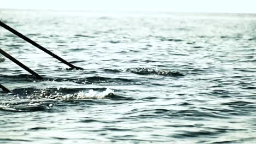
[[[14,89],[13,93],[10,94],[11,101],[10,99],[1,101],[0,111],[11,111],[11,112],[53,111],[52,109],[54,105],[56,107],[65,106],[66,103],[70,103],[70,102],[72,104],[73,103],[77,104],[81,102],[98,104],[98,103],[106,103],[106,102],[95,101],[95,100],[99,100],[99,99],[134,100],[132,98],[126,98],[121,95],[117,95],[110,88],[94,88],[94,89],[89,89],[89,91],[85,89],[86,88]]]

